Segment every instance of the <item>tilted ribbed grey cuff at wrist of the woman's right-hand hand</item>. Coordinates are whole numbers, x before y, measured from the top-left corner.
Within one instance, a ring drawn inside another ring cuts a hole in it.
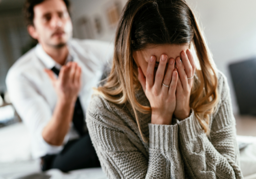
[[[193,109],[188,118],[178,121],[177,124],[179,125],[180,134],[185,142],[193,141],[198,134],[204,132],[198,119],[195,117]]]

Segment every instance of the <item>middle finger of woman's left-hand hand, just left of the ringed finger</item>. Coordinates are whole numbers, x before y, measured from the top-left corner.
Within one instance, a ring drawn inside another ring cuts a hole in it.
[[[157,89],[161,89],[162,87],[166,63],[167,63],[167,55],[161,55],[159,65],[156,71],[155,84],[154,84]]]

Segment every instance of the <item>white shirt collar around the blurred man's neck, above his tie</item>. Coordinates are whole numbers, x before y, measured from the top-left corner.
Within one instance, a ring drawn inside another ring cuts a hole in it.
[[[69,52],[70,52],[70,46],[68,46]],[[46,66],[48,69],[52,69],[53,67],[57,68],[58,70],[61,69],[61,65],[57,62],[55,62],[43,49],[41,44],[36,45],[36,56],[43,62],[43,64]],[[68,62],[73,61],[73,56],[69,53],[68,57],[66,59],[65,64]]]

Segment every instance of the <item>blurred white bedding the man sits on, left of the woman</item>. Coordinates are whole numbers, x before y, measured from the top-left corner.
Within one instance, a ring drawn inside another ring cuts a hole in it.
[[[31,157],[30,134],[22,122],[0,128],[0,146],[0,179],[38,179],[42,174],[40,160]],[[29,176],[35,173],[37,176]],[[52,169],[46,174],[51,179],[107,179],[101,168],[75,170],[69,174]]]

